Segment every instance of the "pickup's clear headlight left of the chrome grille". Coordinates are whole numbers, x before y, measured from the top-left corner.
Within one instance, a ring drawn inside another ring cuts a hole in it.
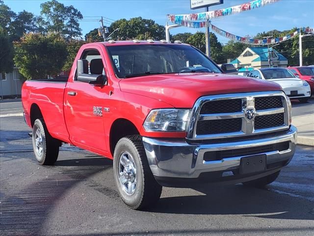
[[[185,131],[189,114],[188,109],[152,110],[143,126],[147,131]]]

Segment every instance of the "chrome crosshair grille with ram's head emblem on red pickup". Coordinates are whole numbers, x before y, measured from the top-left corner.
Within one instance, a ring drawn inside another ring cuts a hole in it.
[[[199,98],[187,139],[241,137],[288,129],[288,107],[282,91],[212,95]]]

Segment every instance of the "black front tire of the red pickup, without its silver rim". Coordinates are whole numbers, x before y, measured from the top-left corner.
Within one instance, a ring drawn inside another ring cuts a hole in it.
[[[124,153],[131,155],[132,164],[136,169],[136,186],[134,193],[128,195],[123,183],[119,180],[120,158]],[[131,135],[120,139],[113,154],[113,174],[121,200],[132,209],[144,209],[151,207],[160,198],[162,186],[160,186],[149,167],[146,153],[142,143],[142,137]]]

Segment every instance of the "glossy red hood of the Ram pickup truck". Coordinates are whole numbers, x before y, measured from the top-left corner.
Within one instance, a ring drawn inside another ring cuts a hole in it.
[[[180,73],[134,77],[120,80],[124,92],[166,102],[176,108],[191,108],[205,95],[278,91],[280,85],[261,79],[213,73]]]

